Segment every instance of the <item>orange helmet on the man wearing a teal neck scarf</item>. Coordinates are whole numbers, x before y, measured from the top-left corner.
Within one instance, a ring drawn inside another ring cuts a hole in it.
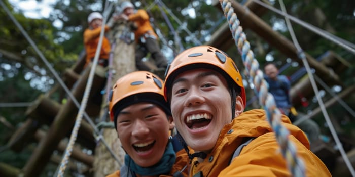
[[[113,85],[109,95],[110,120],[116,127],[117,115],[125,107],[150,102],[160,106],[168,115],[170,106],[164,99],[163,80],[148,71],[135,71],[121,77]]]

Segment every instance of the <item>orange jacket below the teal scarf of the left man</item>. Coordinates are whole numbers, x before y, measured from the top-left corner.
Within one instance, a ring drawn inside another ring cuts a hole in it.
[[[186,151],[184,149],[182,149],[176,153],[176,160],[175,160],[174,165],[171,168],[170,174],[169,175],[159,175],[159,176],[160,177],[173,176],[173,174],[176,171],[182,170],[185,167],[185,165],[189,165],[189,157],[187,156]],[[189,172],[188,172],[189,168],[190,167],[187,166],[182,173],[185,177],[187,177],[189,174]],[[137,177],[138,176],[140,176],[140,175],[137,175]],[[115,171],[114,173],[108,175],[107,177],[120,177],[120,170]]]

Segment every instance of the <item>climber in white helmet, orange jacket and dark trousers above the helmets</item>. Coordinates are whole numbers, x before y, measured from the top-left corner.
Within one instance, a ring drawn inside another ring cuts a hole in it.
[[[133,4],[129,1],[122,2],[120,8],[122,13],[118,15],[116,19],[131,21],[135,26],[134,37],[137,43],[135,62],[137,69],[145,71],[151,70],[151,68],[142,61],[143,57],[150,53],[155,60],[158,70],[165,70],[167,60],[160,51],[158,36],[149,21],[147,11],[144,9],[135,11]]]

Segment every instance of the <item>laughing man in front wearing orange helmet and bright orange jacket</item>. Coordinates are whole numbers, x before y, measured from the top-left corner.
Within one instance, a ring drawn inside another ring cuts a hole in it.
[[[198,46],[168,66],[164,97],[191,159],[190,176],[291,176],[264,110],[244,112],[245,89],[223,51]],[[283,115],[306,176],[331,176],[304,132]],[[194,150],[193,154],[189,151]]]

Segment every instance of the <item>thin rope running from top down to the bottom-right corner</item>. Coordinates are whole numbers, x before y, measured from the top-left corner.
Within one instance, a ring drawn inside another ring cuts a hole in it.
[[[283,1],[279,0],[279,3],[280,3],[280,7],[282,9],[282,12],[286,14],[286,8],[285,8],[285,5],[283,4]],[[326,107],[324,106],[322,98],[321,98],[321,96],[319,94],[317,85],[316,85],[316,83],[314,81],[314,78],[313,78],[313,74],[312,74],[311,69],[310,69],[310,67],[308,65],[308,62],[307,62],[307,59],[306,59],[306,55],[304,54],[301,46],[299,45],[299,43],[297,41],[295,32],[293,31],[293,28],[292,28],[292,25],[291,25],[291,22],[290,22],[289,18],[286,17],[286,16],[285,16],[285,21],[286,21],[287,27],[288,27],[288,29],[290,31],[290,34],[291,34],[292,40],[294,42],[294,45],[297,48],[298,57],[300,59],[302,59],[302,62],[303,62],[304,66],[305,66],[305,68],[307,70],[309,79],[311,81],[311,84],[312,84],[312,87],[313,87],[313,90],[314,90],[314,94],[315,94],[315,96],[316,96],[316,98],[318,100],[318,103],[319,103],[319,107],[321,107],[321,110],[322,110],[322,113],[324,115],[324,118],[327,121],[329,129],[330,129],[330,131],[332,133],[332,136],[333,136],[333,138],[334,138],[334,140],[335,140],[335,142],[336,142],[336,144],[337,144],[337,146],[339,148],[341,156],[343,157],[346,166],[349,168],[349,171],[350,171],[351,175],[355,176],[355,171],[354,171],[354,169],[353,169],[353,167],[352,167],[352,165],[351,165],[351,163],[350,163],[350,161],[349,161],[349,159],[348,159],[348,157],[347,157],[347,155],[346,155],[346,153],[344,151],[344,148],[343,148],[343,146],[342,146],[342,144],[341,144],[341,142],[340,142],[340,140],[338,138],[338,135],[336,134],[335,128],[333,127],[333,124],[332,124],[332,122],[331,122],[331,120],[329,118],[329,115],[328,115],[327,111],[326,111]]]

